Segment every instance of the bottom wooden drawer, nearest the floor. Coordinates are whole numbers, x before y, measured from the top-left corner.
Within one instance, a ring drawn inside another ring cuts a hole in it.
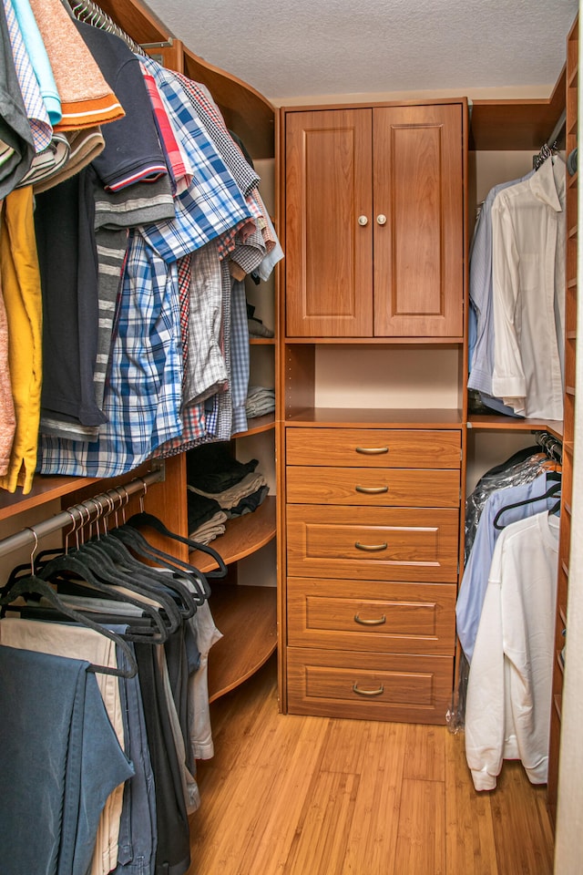
[[[445,724],[454,658],[289,647],[290,714]]]

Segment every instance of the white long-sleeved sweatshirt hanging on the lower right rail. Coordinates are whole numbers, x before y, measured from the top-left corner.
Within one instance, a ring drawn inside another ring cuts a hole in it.
[[[465,704],[465,757],[476,790],[493,790],[504,759],[547,781],[558,520],[518,520],[496,542]]]

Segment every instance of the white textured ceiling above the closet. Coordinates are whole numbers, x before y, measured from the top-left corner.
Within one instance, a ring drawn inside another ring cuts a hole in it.
[[[553,85],[578,0],[147,0],[196,55],[278,98]]]

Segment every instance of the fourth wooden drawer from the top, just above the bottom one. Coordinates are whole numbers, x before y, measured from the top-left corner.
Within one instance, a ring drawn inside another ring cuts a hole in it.
[[[451,656],[455,583],[288,579],[288,643]]]

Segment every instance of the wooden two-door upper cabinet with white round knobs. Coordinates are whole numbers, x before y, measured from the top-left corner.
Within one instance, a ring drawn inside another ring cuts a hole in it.
[[[461,338],[464,113],[285,112],[286,335]]]

